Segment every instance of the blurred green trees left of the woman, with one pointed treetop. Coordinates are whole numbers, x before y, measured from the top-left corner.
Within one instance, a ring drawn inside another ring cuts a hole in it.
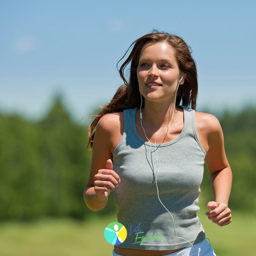
[[[60,97],[39,122],[0,115],[0,220],[42,216],[84,218],[90,165],[87,128]]]

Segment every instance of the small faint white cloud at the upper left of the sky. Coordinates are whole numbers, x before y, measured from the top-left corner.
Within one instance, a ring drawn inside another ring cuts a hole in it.
[[[23,36],[15,40],[13,43],[13,51],[16,54],[26,54],[36,47],[36,41],[33,37]]]

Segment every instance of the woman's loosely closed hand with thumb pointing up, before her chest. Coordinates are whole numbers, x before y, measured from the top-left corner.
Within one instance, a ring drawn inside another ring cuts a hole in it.
[[[106,199],[120,183],[120,177],[112,169],[112,161],[108,159],[106,169],[98,170],[98,173],[94,175],[94,191],[99,199]]]

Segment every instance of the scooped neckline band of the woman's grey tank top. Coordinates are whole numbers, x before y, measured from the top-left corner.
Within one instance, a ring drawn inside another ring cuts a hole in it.
[[[183,137],[183,135],[185,133],[185,130],[187,128],[187,123],[188,123],[187,119],[188,119],[188,117],[187,117],[187,111],[185,111],[185,106],[178,106],[178,107],[182,108],[182,110],[183,110],[184,123],[183,123],[182,131],[180,132],[178,137],[175,138],[174,140],[168,141],[168,142],[165,142],[165,143],[160,143],[160,144],[149,143],[148,141],[145,141],[143,138],[141,138],[141,136],[138,134],[138,131],[136,129],[136,111],[137,111],[138,107],[134,108],[133,109],[133,114],[131,116],[132,121],[133,121],[132,125],[133,125],[133,131],[134,131],[136,137],[139,139],[139,141],[141,141],[143,144],[145,144],[147,146],[156,146],[156,147],[169,146],[169,145],[174,144],[175,142],[179,141],[180,138]]]

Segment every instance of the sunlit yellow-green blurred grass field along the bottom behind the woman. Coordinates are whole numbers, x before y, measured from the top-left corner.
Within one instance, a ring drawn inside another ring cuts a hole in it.
[[[200,210],[199,217],[217,256],[256,255],[255,213],[235,212],[229,226],[218,227],[203,211]],[[115,216],[86,222],[69,219],[5,222],[0,224],[0,256],[111,256],[112,246],[105,241],[103,232],[114,221]]]

